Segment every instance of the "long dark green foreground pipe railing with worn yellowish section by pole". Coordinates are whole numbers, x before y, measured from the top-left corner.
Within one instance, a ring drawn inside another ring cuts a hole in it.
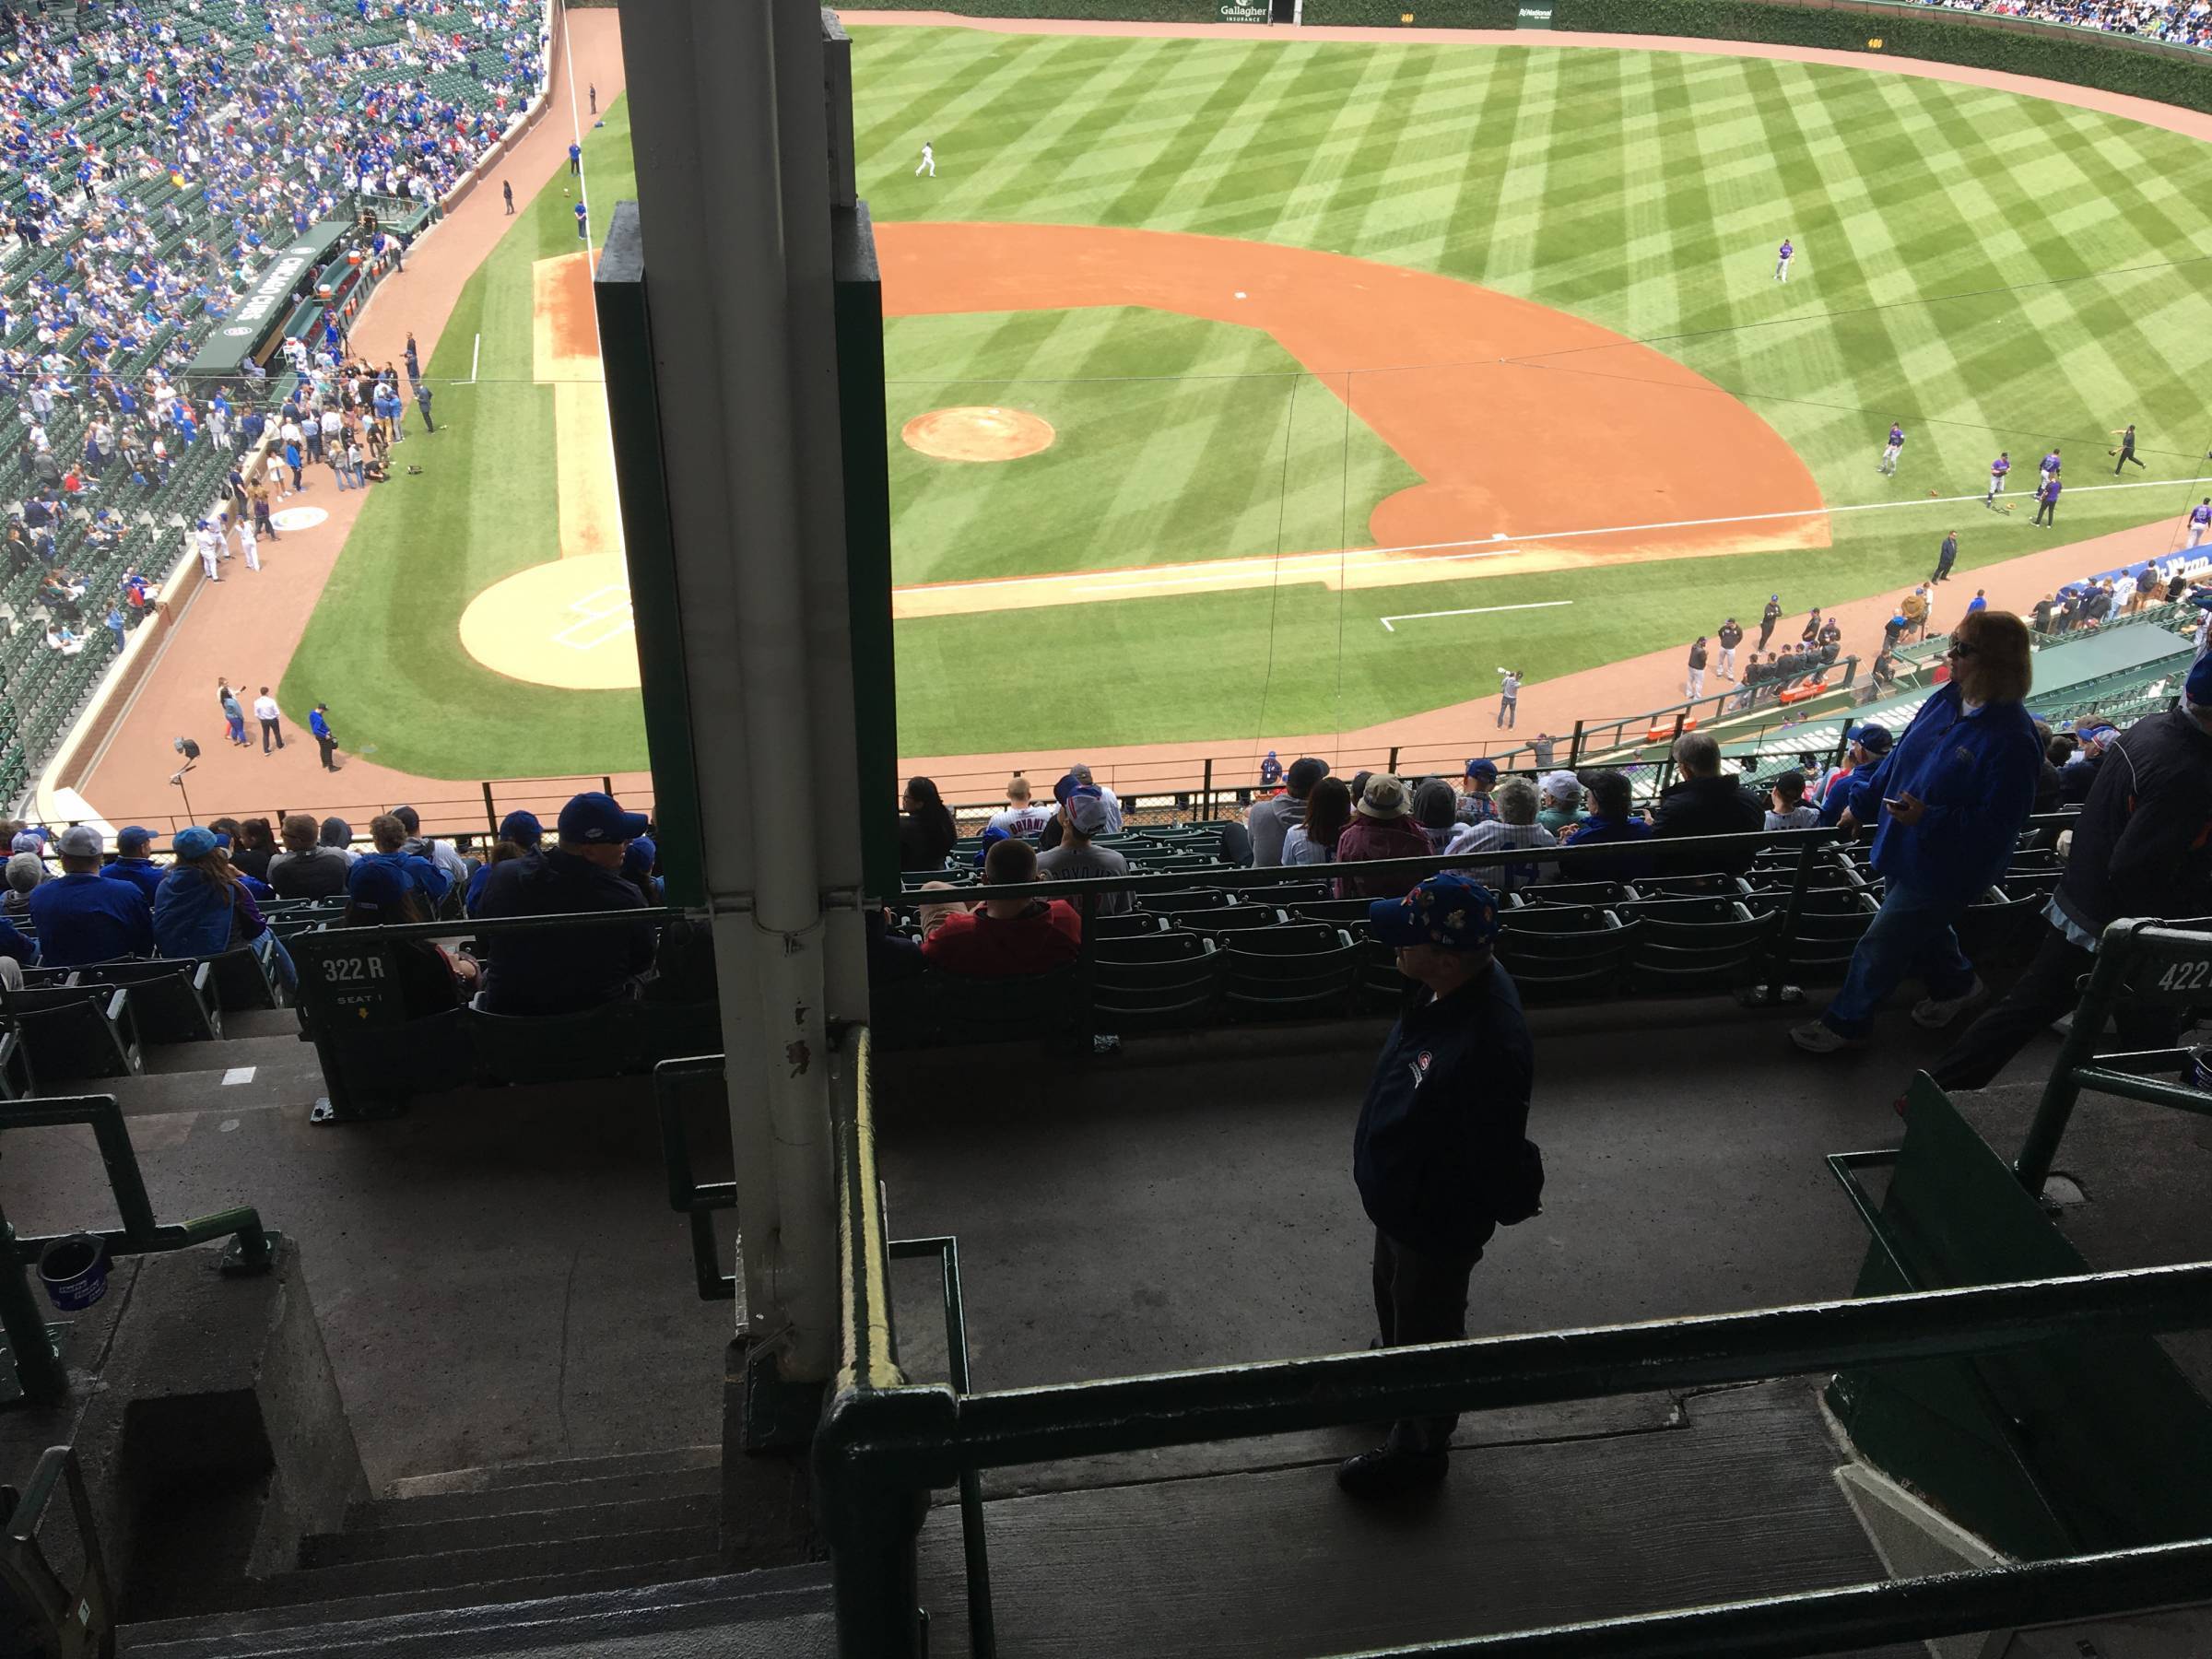
[[[982,1469],[2212,1323],[2212,1263],[2190,1263],[1033,1389],[914,1385],[896,1360],[867,1033],[852,1040],[854,1099],[836,1133],[843,1365],[814,1440],[845,1659],[920,1659],[927,1650],[916,1564],[922,1495]],[[2201,1601],[2208,1571],[2212,1540],[2192,1540],[1387,1648],[1363,1659],[1783,1659]]]

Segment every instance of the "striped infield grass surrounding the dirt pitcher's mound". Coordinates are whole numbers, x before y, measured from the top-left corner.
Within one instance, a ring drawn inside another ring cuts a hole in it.
[[[898,582],[1338,549],[1420,482],[1261,330],[1108,305],[894,316],[883,345]],[[964,405],[1037,414],[1053,447],[967,462],[898,442]]]

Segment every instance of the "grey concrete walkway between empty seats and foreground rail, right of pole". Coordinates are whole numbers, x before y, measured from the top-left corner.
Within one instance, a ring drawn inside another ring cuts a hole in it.
[[[1544,1214],[1475,1270],[1471,1334],[1849,1296],[1865,1234],[1823,1164],[1893,1146],[1940,1048],[1790,1048],[1719,1004],[1540,1011]],[[1365,1347],[1374,1232],[1352,1124],[1385,1024],[1208,1037],[1093,1071],[909,1055],[880,1073],[894,1237],[960,1237],[975,1387]],[[945,1363],[936,1270],[898,1267],[909,1369]]]

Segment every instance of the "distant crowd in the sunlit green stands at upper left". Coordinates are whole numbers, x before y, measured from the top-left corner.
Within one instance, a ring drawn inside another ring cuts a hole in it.
[[[301,422],[303,460],[323,453],[307,418],[338,407],[336,325],[290,343],[283,387],[252,363],[228,387],[192,385],[186,365],[312,223],[352,221],[363,195],[451,190],[540,86],[542,22],[544,0],[0,11],[0,396],[18,427],[0,500],[18,626],[64,657],[119,650],[175,560],[166,526],[181,509],[192,551],[223,458],[270,418]],[[383,230],[369,243],[398,252]],[[396,405],[396,367],[369,374]],[[341,487],[378,476],[372,438],[358,460],[330,449]],[[301,482],[292,467],[285,484]]]

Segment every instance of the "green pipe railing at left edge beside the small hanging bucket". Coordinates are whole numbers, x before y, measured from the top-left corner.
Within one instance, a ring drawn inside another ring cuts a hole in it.
[[[210,1239],[230,1239],[223,1250],[226,1274],[265,1274],[276,1265],[283,1234],[261,1225],[261,1214],[248,1206],[232,1206],[195,1221],[155,1221],[153,1199],[146,1197],[146,1179],[139,1175],[137,1150],[131,1146],[131,1130],[124,1126],[122,1108],[113,1095],[64,1095],[53,1099],[0,1102],[0,1133],[11,1128],[64,1128],[84,1124],[100,1144],[100,1161],[108,1172],[108,1192],[115,1194],[119,1228],[91,1232],[100,1239],[108,1256],[153,1256],[166,1250],[190,1250]],[[75,1237],[75,1234],[53,1234]],[[33,1405],[53,1405],[69,1394],[69,1369],[62,1365],[58,1336],[64,1327],[46,1325],[24,1272],[40,1252],[53,1243],[44,1239],[18,1239],[7,1214],[0,1212],[0,1332],[7,1334],[13,1358],[13,1380],[22,1398]],[[0,1374],[0,1385],[9,1383]],[[7,1402],[7,1400],[0,1400]]]

